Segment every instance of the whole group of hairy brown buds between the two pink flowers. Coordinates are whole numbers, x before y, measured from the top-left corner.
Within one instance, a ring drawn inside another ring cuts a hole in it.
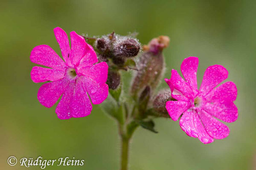
[[[84,38],[94,47],[99,62],[108,63],[106,83],[114,98],[118,99],[121,87],[120,70],[135,71],[130,92],[138,106],[134,114],[136,119],[148,119],[148,115],[168,117],[165,105],[167,101],[173,100],[171,91],[164,89],[155,93],[155,90],[164,72],[163,49],[168,47],[169,37],[153,38],[148,45],[143,45],[143,53],[140,53],[138,40],[131,36],[120,36],[113,32],[102,37]],[[139,57],[135,59],[138,54]]]

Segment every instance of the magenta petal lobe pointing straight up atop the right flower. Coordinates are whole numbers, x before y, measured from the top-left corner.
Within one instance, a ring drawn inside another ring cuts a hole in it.
[[[183,74],[183,77],[186,79],[186,82],[191,87],[194,93],[197,93],[197,78],[196,72],[198,69],[198,58],[189,57],[183,60],[180,70]]]

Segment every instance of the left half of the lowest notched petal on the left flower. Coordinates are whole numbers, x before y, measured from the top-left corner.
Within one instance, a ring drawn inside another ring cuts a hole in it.
[[[76,86],[75,82],[69,83],[66,91],[61,97],[61,101],[56,107],[55,112],[57,113],[57,116],[59,119],[70,119],[72,117],[70,105],[73,101],[75,86]]]

